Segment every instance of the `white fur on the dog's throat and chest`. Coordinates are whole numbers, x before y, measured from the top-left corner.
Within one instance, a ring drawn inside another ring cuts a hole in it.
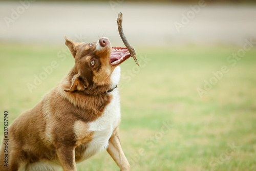
[[[115,87],[120,79],[120,67],[117,67],[112,75],[112,85]],[[110,93],[112,95],[112,100],[106,106],[102,116],[97,118],[95,121],[89,123],[90,132],[94,132],[93,140],[90,141],[87,145],[87,149],[83,154],[83,159],[85,160],[95,153],[101,151],[102,149],[108,147],[109,139],[116,127],[119,124],[121,117],[120,113],[120,96],[118,89]]]

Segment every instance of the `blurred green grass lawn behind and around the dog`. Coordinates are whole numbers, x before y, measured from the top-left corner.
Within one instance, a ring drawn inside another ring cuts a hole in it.
[[[0,46],[0,104],[2,111],[9,110],[10,123],[33,108],[74,65],[71,55],[64,61],[57,57],[62,48]],[[226,59],[238,47],[136,50],[139,61],[143,56],[151,60],[140,61],[140,69],[133,59],[122,63],[119,84],[119,134],[132,170],[256,170],[256,49],[233,67]],[[59,67],[30,93],[27,82],[53,60]],[[200,98],[197,88],[224,65],[229,72]],[[163,122],[172,123],[164,133]],[[105,151],[77,167],[119,170]]]

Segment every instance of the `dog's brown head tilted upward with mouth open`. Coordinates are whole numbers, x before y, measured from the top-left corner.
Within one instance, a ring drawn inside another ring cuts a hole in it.
[[[131,56],[126,48],[112,47],[106,37],[91,43],[65,39],[75,58],[71,87],[65,89],[66,92],[84,91],[95,85],[110,85],[114,69]]]

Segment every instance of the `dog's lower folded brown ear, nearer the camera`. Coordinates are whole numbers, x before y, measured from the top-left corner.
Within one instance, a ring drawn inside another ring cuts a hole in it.
[[[65,92],[83,91],[87,88],[86,82],[76,74],[73,76],[71,81],[71,87],[69,89],[64,89]]]

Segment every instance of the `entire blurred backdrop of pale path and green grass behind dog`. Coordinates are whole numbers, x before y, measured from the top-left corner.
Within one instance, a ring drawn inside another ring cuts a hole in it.
[[[119,84],[132,170],[256,170],[252,0],[0,1],[0,105],[9,123],[74,65],[65,35],[124,47],[119,12],[140,63],[122,63]],[[106,152],[77,166],[119,170]]]

